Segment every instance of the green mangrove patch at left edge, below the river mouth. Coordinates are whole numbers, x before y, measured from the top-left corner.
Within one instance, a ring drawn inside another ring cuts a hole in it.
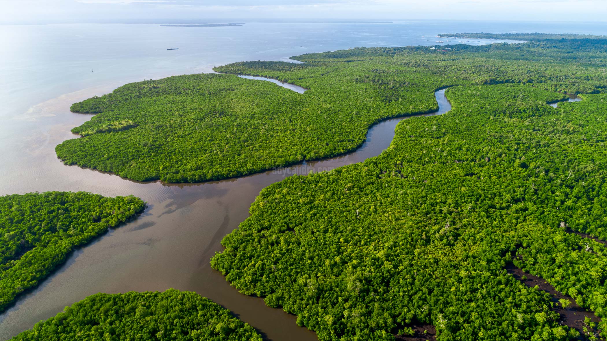
[[[139,198],[86,192],[0,197],[0,311],[38,285],[76,246],[144,209]]]

